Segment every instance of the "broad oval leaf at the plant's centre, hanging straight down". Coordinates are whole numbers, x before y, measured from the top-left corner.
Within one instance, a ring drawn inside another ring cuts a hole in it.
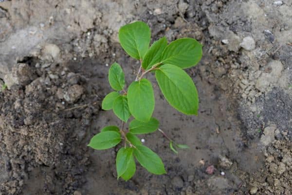
[[[128,88],[128,105],[133,117],[149,121],[154,111],[154,92],[152,84],[146,78],[132,82]]]

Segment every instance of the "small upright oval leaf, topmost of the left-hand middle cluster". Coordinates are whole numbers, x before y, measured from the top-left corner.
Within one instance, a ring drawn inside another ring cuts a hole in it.
[[[121,66],[116,62],[110,66],[109,81],[111,88],[116,91],[121,91],[125,86],[125,74]]]

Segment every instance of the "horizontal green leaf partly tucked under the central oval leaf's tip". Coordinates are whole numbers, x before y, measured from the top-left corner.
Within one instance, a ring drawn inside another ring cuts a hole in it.
[[[151,117],[148,122],[134,119],[129,124],[129,131],[132,134],[148,134],[155,132],[158,127],[159,121],[156,118]]]

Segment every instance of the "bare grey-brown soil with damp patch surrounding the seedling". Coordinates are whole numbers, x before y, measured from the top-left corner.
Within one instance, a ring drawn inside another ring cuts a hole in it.
[[[290,195],[292,192],[292,1],[0,0],[0,195]],[[137,166],[117,180],[118,147],[86,145],[120,125],[101,101],[110,64],[129,84],[139,62],[118,43],[143,20],[152,41],[203,45],[187,73],[198,116],[164,99],[153,75],[160,128],[190,149],[174,154],[159,132],[140,136],[167,174]]]

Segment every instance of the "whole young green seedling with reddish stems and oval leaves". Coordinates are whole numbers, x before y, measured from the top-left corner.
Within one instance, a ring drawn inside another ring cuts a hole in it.
[[[109,82],[114,90],[102,102],[103,110],[113,110],[122,120],[121,127],[107,126],[91,138],[88,146],[104,150],[116,146],[122,140],[122,146],[116,156],[117,177],[130,179],[136,171],[135,159],[147,171],[162,175],[166,171],[161,158],[147,148],[136,136],[153,133],[157,129],[169,139],[171,150],[187,148],[176,144],[159,129],[159,121],[152,117],[155,100],[151,82],[146,74],[155,73],[158,85],[168,103],[186,115],[197,115],[199,98],[197,89],[183,70],[195,66],[202,57],[202,45],[196,39],[183,38],[167,44],[165,37],[155,41],[150,47],[150,28],[142,21],[136,21],[119,30],[119,40],[126,53],[141,62],[135,81],[125,87],[125,75],[118,63],[109,70]],[[128,132],[125,124],[130,117]]]

